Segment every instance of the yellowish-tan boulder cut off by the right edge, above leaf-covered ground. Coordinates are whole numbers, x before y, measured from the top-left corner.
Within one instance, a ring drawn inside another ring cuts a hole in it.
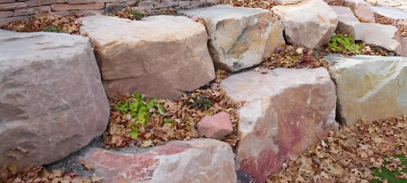
[[[373,120],[407,113],[407,58],[328,55],[337,85],[342,122]]]

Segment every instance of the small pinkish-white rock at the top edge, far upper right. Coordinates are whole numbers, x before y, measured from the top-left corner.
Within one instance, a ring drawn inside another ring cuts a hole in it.
[[[364,0],[344,0],[343,6],[349,7],[353,11],[355,16],[368,23],[374,23],[374,15],[371,10],[370,4]]]

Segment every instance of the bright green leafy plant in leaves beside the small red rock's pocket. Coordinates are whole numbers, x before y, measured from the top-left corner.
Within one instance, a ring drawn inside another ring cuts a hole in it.
[[[150,118],[154,111],[157,111],[160,115],[164,116],[164,108],[160,103],[157,103],[157,99],[150,99],[149,101],[144,100],[145,95],[139,95],[138,93],[132,94],[132,100],[127,100],[126,102],[117,103],[116,107],[119,112],[126,114],[129,112],[134,118],[129,127],[132,130],[128,133],[131,138],[135,139],[138,137],[138,127],[139,125],[145,126],[147,124],[147,119]]]

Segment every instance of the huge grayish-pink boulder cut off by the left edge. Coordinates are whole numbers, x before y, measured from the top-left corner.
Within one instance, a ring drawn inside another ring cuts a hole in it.
[[[104,132],[109,103],[88,39],[0,30],[0,164],[49,164]]]

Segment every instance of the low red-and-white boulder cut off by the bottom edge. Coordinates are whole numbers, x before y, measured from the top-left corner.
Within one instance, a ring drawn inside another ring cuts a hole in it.
[[[236,182],[234,153],[223,141],[170,141],[142,154],[94,149],[84,158],[104,182]]]

